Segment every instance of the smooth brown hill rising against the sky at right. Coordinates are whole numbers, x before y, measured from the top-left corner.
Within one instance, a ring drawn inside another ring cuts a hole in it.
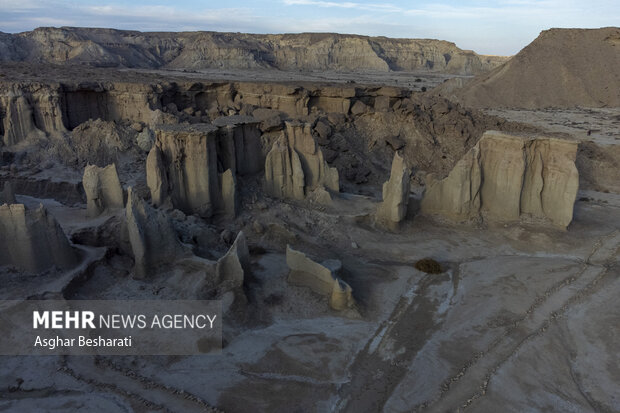
[[[620,28],[551,29],[452,93],[472,107],[620,106]]]

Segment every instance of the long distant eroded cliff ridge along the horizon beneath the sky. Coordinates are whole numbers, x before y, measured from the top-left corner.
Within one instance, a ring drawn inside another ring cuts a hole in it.
[[[141,33],[38,28],[0,38],[4,61],[134,68],[419,71],[478,74],[505,58],[431,39],[336,33]]]

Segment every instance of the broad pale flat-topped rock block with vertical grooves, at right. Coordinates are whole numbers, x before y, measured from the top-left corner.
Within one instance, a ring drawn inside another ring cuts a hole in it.
[[[543,220],[566,228],[579,187],[577,143],[485,132],[443,180],[429,176],[421,211],[464,221]]]

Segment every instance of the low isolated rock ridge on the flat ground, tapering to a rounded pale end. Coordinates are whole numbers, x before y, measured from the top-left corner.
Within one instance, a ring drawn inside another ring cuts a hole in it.
[[[340,261],[330,260],[319,264],[287,245],[286,264],[291,270],[288,276],[291,284],[309,287],[326,296],[334,310],[341,311],[355,306],[353,290],[336,275],[341,267]]]

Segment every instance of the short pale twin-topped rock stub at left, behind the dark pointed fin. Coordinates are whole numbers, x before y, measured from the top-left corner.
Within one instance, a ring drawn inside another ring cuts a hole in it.
[[[82,185],[86,193],[86,210],[91,217],[96,217],[107,209],[125,206],[123,188],[115,164],[105,168],[88,165],[84,169]]]

